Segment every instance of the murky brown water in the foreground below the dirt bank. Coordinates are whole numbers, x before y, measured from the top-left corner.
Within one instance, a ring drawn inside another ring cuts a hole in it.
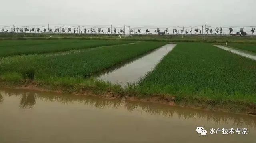
[[[0,143],[255,143],[256,117],[27,90],[0,90]],[[248,128],[246,135],[196,127]]]

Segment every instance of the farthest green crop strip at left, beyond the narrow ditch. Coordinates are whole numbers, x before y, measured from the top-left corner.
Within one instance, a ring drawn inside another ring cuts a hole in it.
[[[42,54],[131,43],[122,40],[0,40],[0,57],[20,54]]]

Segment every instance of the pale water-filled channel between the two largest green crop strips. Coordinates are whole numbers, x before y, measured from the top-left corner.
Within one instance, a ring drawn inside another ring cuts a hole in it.
[[[168,54],[176,44],[166,44],[149,54],[142,56],[132,62],[108,70],[97,78],[110,83],[119,83],[123,87],[128,83],[136,83],[151,71],[158,62]]]

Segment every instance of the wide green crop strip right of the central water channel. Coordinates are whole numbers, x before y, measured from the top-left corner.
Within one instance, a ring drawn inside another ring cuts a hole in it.
[[[180,43],[139,83],[144,94],[256,103],[256,62],[205,43]],[[199,101],[200,102],[200,101]]]

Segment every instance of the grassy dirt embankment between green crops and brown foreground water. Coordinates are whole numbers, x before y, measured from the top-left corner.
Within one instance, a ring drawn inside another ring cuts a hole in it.
[[[50,89],[48,87],[40,87],[36,83],[26,83],[24,85],[6,85],[0,83],[2,88],[12,88],[12,89],[26,89],[33,91],[45,91],[45,92],[56,92],[56,93],[67,93],[66,89]],[[115,93],[113,91],[106,91],[95,93],[92,90],[80,89],[76,92],[68,92],[74,95],[90,95],[90,96],[99,96],[103,99],[125,99],[127,101],[141,101],[141,102],[150,102],[150,103],[160,103],[170,106],[182,106],[182,107],[190,107],[193,109],[203,109],[203,110],[211,110],[211,111],[224,111],[224,112],[234,112],[234,113],[243,113],[256,115],[256,104],[244,104],[242,102],[236,103],[225,103],[223,105],[215,104],[215,101],[211,100],[202,100],[202,99],[177,99],[175,96],[170,95],[152,95],[152,96],[144,96],[140,97],[134,95],[133,93]],[[188,101],[189,100],[189,101]]]

